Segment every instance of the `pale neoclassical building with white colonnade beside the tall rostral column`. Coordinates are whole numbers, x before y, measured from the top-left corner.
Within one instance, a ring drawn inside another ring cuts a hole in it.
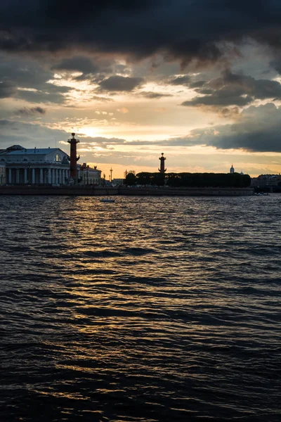
[[[69,156],[60,148],[24,148],[13,145],[0,151],[6,184],[68,184]]]

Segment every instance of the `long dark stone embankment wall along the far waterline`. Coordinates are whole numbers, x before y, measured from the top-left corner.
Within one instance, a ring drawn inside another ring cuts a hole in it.
[[[253,188],[151,188],[121,186],[0,186],[0,195],[61,195],[61,196],[250,196]]]

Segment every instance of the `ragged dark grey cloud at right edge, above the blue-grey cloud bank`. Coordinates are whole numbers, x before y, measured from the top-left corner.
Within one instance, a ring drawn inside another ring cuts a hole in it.
[[[254,79],[249,75],[240,75],[226,70],[221,77],[212,79],[195,91],[196,96],[184,101],[182,106],[247,106],[255,99],[281,98],[281,84],[269,79]]]

